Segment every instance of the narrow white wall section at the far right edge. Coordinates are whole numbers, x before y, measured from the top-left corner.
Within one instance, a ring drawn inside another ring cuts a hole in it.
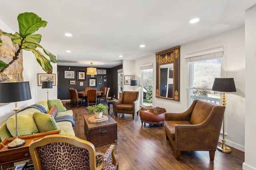
[[[245,154],[244,170],[256,170],[256,113],[255,113],[255,72],[256,72],[256,7],[246,10],[245,56],[246,56],[246,109],[245,109]]]

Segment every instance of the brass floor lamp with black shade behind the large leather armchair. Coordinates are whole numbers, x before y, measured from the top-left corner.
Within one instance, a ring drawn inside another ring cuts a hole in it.
[[[218,91],[218,92],[223,92],[223,97],[222,97],[222,105],[226,105],[226,97],[225,93],[226,92],[236,92],[236,86],[234,82],[234,78],[215,78],[213,85],[212,85],[212,90],[213,91]],[[217,149],[225,152],[225,153],[230,153],[231,149],[229,147],[226,147],[225,145],[225,120],[223,116],[223,138],[222,138],[222,144],[217,146]]]

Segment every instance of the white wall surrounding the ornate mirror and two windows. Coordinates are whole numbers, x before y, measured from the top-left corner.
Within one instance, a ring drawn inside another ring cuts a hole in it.
[[[186,90],[186,63],[184,55],[220,45],[226,46],[227,77],[234,78],[237,92],[226,96],[226,144],[244,151],[244,117],[245,117],[245,47],[244,27],[239,27],[218,35],[198,41],[181,44],[180,47],[180,102],[153,98],[153,105],[166,108],[167,112],[182,112],[188,108]],[[254,43],[255,44],[255,43]],[[171,48],[171,47],[170,47]],[[164,50],[164,49],[162,49]],[[157,52],[157,51],[156,51]],[[140,65],[154,62],[154,75],[156,75],[155,55],[148,55],[136,60],[135,75],[140,76]],[[124,67],[129,67],[125,65]],[[154,80],[155,88],[156,80]],[[155,96],[155,92],[153,94]],[[220,141],[222,135],[220,136]]]

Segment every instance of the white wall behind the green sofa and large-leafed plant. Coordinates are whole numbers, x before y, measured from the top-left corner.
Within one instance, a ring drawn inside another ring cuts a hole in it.
[[[8,33],[14,33],[16,31],[18,31],[18,30],[12,31],[1,20],[0,20],[0,29],[2,29],[2,31],[4,31],[4,32],[8,32]],[[42,70],[41,66],[37,63],[36,57],[34,56],[34,54],[31,51],[23,50],[22,53],[23,53],[23,68],[24,68],[23,78],[24,78],[24,81],[28,81],[30,84],[30,91],[31,91],[32,99],[18,102],[17,107],[20,107],[20,108],[34,104],[35,102],[37,102],[39,100],[38,96],[42,96],[43,94],[45,97],[41,98],[41,99],[44,99],[44,100],[47,99],[45,89],[41,89],[42,88],[41,86],[40,86],[40,88],[37,86],[37,73],[45,73],[45,72]],[[57,64],[53,64],[53,67],[54,67],[54,73],[57,73]],[[56,76],[57,76],[57,74],[56,74]],[[51,98],[57,98],[57,86],[54,87],[53,89],[54,89],[53,92],[50,92],[50,93],[52,93]],[[49,94],[49,98],[50,98],[50,94]],[[0,107],[0,125],[2,125],[2,123],[4,123],[9,117],[11,117],[12,115],[15,114],[15,112],[11,110],[14,107],[15,107],[14,103]]]

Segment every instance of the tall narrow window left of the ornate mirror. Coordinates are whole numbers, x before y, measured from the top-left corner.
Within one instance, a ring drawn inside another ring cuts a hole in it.
[[[141,70],[141,104],[153,106],[153,63],[140,67]]]

